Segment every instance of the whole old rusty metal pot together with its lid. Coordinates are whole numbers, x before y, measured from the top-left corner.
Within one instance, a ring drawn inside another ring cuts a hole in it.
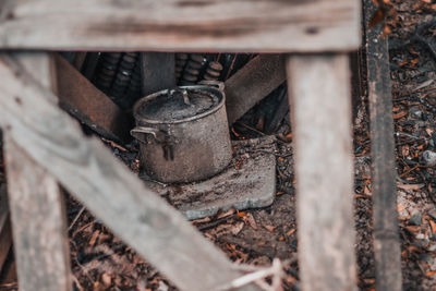
[[[141,166],[161,182],[209,178],[229,165],[231,143],[223,84],[181,86],[138,100],[133,109]]]

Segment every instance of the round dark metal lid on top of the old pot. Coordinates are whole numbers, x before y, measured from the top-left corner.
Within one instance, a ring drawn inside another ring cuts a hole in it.
[[[217,92],[210,88],[189,87],[164,90],[140,101],[135,113],[138,118],[159,122],[173,122],[196,117],[220,104],[222,96],[216,94]]]

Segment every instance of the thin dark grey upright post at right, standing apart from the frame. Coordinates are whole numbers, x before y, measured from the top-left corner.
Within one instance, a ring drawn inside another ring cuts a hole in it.
[[[371,0],[365,0],[364,7],[365,27],[368,27],[376,8]],[[397,213],[392,93],[388,37],[382,34],[383,24],[366,28],[365,32],[373,161],[376,289],[399,291],[402,290],[402,276]]]

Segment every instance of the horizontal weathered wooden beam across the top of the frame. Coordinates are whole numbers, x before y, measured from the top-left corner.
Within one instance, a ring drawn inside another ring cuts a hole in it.
[[[335,51],[360,45],[359,0],[4,0],[0,47]]]

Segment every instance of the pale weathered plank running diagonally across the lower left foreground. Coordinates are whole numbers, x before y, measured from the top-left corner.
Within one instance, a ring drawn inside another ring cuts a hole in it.
[[[47,98],[55,96],[4,54],[0,77],[0,124],[7,134],[169,280],[181,290],[216,290],[241,276],[100,141],[85,137]]]

